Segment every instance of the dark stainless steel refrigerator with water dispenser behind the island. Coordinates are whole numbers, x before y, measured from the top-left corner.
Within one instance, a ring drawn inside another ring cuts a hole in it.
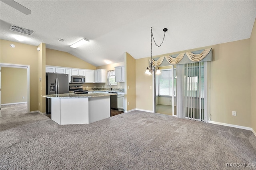
[[[68,74],[46,73],[46,95],[68,93]],[[51,99],[46,98],[46,113],[52,110]]]

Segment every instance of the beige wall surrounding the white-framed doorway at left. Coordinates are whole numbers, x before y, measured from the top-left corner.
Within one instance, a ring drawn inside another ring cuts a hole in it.
[[[1,63],[30,65],[30,111],[36,111],[38,109],[37,47],[7,40],[0,40],[0,43]],[[11,43],[15,45],[15,48],[10,47]],[[2,98],[4,97],[5,96],[2,95]]]

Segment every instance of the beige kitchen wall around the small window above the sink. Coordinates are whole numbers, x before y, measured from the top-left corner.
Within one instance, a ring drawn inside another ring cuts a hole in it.
[[[108,70],[114,70],[115,67],[122,66],[122,65],[124,65],[124,62],[102,65],[102,66],[96,67],[96,69],[106,69],[106,74],[107,74]],[[85,84],[85,85],[87,85],[87,84]],[[93,85],[93,88],[94,88],[94,86],[96,86],[97,88],[102,88],[102,86],[103,86],[103,88],[110,88],[108,85],[108,81],[107,81],[107,75],[106,75],[106,83],[93,83],[92,85]],[[118,82],[117,85],[116,86],[113,85],[112,88],[118,89],[118,87],[121,88],[121,86],[122,86],[122,89],[124,89],[124,83]]]

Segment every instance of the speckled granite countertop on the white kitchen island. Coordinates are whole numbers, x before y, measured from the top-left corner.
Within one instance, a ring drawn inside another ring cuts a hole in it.
[[[74,93],[64,93],[64,94],[54,94],[54,95],[42,95],[46,98],[88,98],[88,97],[103,97],[117,95],[116,93],[90,93],[90,94],[74,94]]]

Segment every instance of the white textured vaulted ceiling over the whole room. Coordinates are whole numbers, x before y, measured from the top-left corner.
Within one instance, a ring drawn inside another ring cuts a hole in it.
[[[78,1],[16,0],[32,12],[25,15],[0,2],[0,38],[66,51],[95,66],[150,57],[150,27],[158,44],[153,56],[250,38],[256,1]],[[32,36],[10,31],[14,24],[34,30]],[[59,42],[62,38],[65,41]],[[73,43],[87,38],[76,49]]]

